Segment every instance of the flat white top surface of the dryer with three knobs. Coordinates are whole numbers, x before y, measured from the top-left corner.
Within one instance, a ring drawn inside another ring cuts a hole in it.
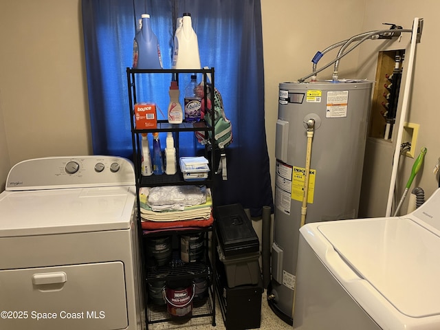
[[[134,186],[3,191],[0,237],[129,229]]]

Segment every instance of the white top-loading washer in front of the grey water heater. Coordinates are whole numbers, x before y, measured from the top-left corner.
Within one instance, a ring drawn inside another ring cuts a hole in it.
[[[303,226],[294,329],[440,329],[440,189],[404,217]]]

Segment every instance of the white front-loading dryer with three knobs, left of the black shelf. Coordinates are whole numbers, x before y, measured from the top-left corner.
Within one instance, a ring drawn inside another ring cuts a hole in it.
[[[142,329],[133,164],[47,157],[0,194],[0,329]]]

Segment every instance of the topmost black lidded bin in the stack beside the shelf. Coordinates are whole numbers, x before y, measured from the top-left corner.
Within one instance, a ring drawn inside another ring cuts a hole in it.
[[[259,237],[241,204],[218,206],[214,216],[225,257],[260,251]]]

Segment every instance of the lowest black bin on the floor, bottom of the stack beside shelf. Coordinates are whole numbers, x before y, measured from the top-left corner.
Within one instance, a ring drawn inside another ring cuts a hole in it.
[[[256,329],[261,326],[261,294],[263,281],[257,285],[230,288],[223,263],[217,254],[217,290],[226,330]]]

